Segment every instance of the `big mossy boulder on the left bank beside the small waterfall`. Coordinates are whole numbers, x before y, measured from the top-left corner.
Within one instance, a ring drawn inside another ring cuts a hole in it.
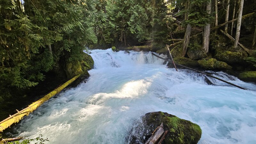
[[[88,70],[93,68],[94,61],[92,57],[87,53],[83,53],[82,60],[73,60],[66,63],[66,75],[68,78],[72,78],[79,74],[89,76]]]

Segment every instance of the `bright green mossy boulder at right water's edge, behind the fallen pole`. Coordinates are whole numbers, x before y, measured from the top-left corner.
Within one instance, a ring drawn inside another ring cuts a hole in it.
[[[201,68],[207,69],[207,70],[231,70],[232,67],[229,66],[226,62],[218,61],[214,58],[204,58],[202,60],[198,60],[198,63]]]

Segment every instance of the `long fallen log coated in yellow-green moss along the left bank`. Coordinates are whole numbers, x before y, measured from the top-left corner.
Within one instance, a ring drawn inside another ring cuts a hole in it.
[[[75,81],[80,75],[77,75],[67,81],[65,84],[62,84],[60,87],[56,88],[52,92],[45,95],[40,100],[37,100],[36,102],[29,105],[27,108],[19,111],[18,113],[6,118],[2,122],[0,122],[0,132],[3,132],[6,128],[11,126],[14,123],[18,123],[21,119],[23,119],[24,116],[28,116],[31,112],[36,110],[39,106],[41,106],[45,101],[49,100],[51,97],[62,91],[64,88],[66,88],[69,84],[71,84],[73,81]]]

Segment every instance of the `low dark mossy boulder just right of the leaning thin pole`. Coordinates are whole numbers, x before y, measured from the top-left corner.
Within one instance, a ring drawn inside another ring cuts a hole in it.
[[[191,60],[189,58],[175,57],[175,58],[173,58],[173,61],[176,64],[180,64],[180,65],[187,66],[187,67],[199,67],[199,64],[196,60]],[[173,65],[171,63],[169,63],[168,67],[172,68]]]

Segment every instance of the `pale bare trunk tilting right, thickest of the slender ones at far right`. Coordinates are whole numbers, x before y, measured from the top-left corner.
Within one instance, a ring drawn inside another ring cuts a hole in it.
[[[239,40],[239,36],[240,36],[243,7],[244,7],[244,0],[241,0],[240,4],[239,4],[239,10],[238,10],[236,38],[235,38],[235,42],[234,42],[234,48],[237,48],[237,44],[238,44],[238,40]]]

